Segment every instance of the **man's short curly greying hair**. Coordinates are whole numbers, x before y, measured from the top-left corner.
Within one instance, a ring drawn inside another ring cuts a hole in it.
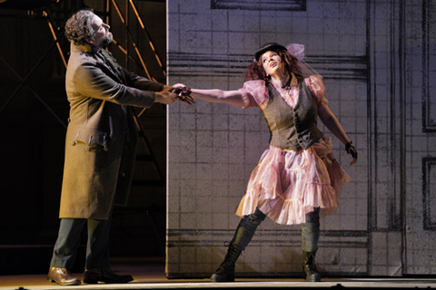
[[[71,16],[65,24],[65,37],[76,45],[86,44],[86,39],[93,37],[94,13],[90,10],[80,10]]]

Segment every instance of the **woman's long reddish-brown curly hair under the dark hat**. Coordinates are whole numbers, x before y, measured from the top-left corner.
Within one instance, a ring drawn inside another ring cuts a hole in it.
[[[300,69],[300,66],[298,65],[298,60],[295,56],[293,56],[291,53],[284,49],[275,49],[272,51],[279,54],[280,58],[282,59],[282,63],[284,64],[284,68],[286,69],[286,71],[288,71],[289,74],[302,74],[302,70]],[[262,56],[261,58],[259,58],[259,62],[253,62],[247,67],[243,76],[244,82],[253,80],[263,80],[266,83],[270,82],[270,77],[266,75],[261,60]]]

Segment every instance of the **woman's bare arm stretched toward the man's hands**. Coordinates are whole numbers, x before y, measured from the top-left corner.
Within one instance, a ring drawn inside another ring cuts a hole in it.
[[[207,102],[223,102],[229,105],[245,107],[247,103],[243,100],[241,91],[223,91],[218,89],[198,90],[191,89],[193,97]]]

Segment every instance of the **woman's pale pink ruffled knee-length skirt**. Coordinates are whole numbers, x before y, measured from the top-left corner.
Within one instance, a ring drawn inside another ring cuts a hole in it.
[[[302,224],[313,208],[320,208],[321,216],[335,212],[342,186],[350,180],[333,157],[330,138],[307,150],[270,146],[253,169],[236,215],[250,215],[257,207],[278,224]]]

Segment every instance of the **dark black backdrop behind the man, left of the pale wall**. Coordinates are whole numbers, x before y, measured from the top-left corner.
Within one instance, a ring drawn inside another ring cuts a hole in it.
[[[93,9],[111,25],[118,45],[109,50],[118,62],[147,76],[139,53],[151,77],[166,82],[165,2],[135,0],[134,5],[146,30],[128,0],[0,1],[0,275],[45,273],[57,237],[69,111],[61,57],[67,60],[69,53],[65,20],[79,8]],[[139,121],[145,139],[139,144],[130,202],[114,209],[114,261],[164,257],[165,107],[154,105]],[[85,235],[74,271],[83,270]]]

